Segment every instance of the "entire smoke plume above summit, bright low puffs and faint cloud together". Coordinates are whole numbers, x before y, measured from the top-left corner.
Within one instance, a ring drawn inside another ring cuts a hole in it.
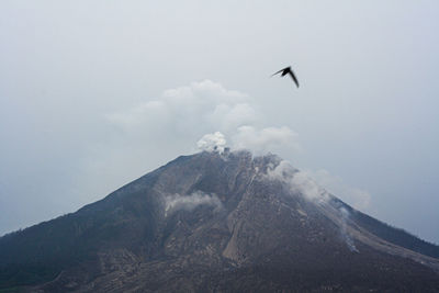
[[[297,149],[296,134],[286,126],[266,126],[264,115],[248,94],[211,80],[166,90],[159,99],[137,104],[105,119],[131,145],[155,145],[161,151],[246,148],[257,154]],[[192,149],[190,149],[192,148]]]

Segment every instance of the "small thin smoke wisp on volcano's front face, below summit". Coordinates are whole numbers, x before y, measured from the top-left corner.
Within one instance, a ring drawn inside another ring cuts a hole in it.
[[[223,203],[216,194],[198,191],[190,195],[173,194],[165,196],[165,216],[180,210],[191,212],[199,205],[213,206],[214,211],[223,209]]]

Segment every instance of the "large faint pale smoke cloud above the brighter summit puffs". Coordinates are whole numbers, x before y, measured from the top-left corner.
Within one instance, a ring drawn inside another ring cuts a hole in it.
[[[153,136],[156,134],[150,131],[158,128],[159,133],[167,131],[173,136],[200,137],[205,133],[227,133],[240,125],[254,124],[259,114],[245,93],[203,80],[166,90],[159,99],[109,114],[106,119],[125,132],[144,131]]]

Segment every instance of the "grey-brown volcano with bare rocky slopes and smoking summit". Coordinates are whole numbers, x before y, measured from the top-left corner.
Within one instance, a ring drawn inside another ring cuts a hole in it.
[[[439,247],[274,155],[182,156],[0,238],[0,292],[438,292]]]

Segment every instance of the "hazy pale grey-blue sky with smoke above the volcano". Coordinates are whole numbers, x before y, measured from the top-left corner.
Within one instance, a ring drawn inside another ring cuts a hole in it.
[[[439,3],[1,1],[0,235],[221,132],[439,243]],[[269,78],[292,65],[301,88]]]

